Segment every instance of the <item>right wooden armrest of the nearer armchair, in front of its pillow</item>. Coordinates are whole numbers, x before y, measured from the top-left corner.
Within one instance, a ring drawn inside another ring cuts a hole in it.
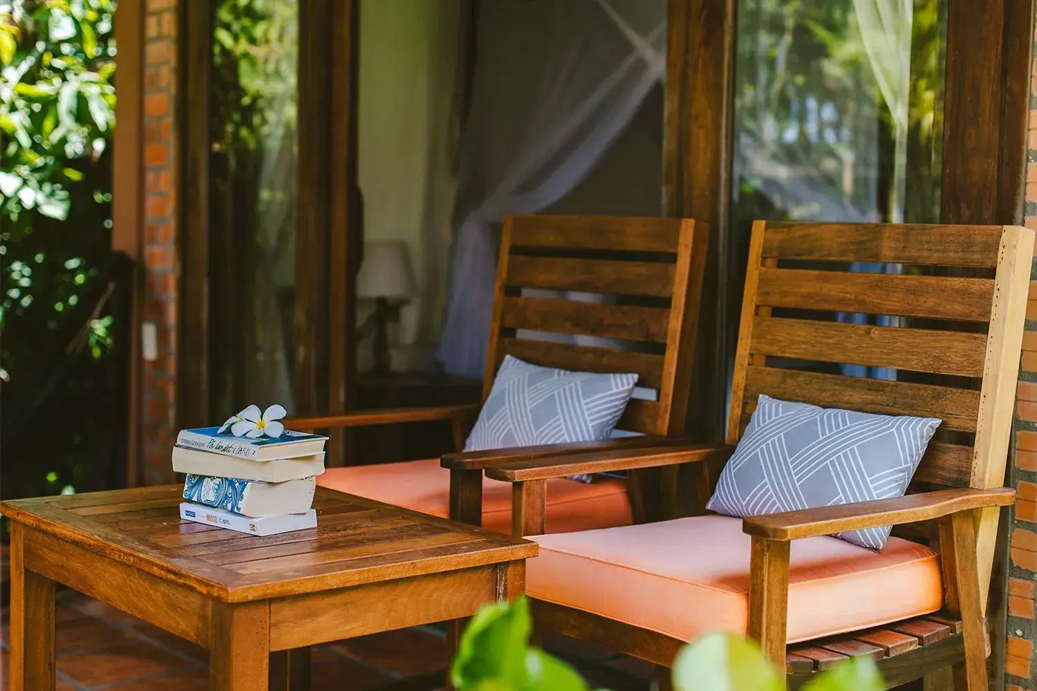
[[[1015,501],[1015,490],[949,489],[907,494],[892,499],[875,499],[838,507],[789,511],[769,516],[753,516],[741,522],[742,531],[767,540],[787,542],[833,532],[860,530],[880,525],[899,525],[940,518],[959,511],[1007,507]]]

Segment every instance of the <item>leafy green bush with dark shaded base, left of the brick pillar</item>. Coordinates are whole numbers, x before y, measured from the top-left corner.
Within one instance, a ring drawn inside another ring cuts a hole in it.
[[[0,0],[4,497],[112,483],[125,397],[108,356],[116,324],[105,273],[115,8],[115,0]]]

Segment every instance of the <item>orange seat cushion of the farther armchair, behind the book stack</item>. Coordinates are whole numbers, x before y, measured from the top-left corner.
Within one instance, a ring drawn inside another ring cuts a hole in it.
[[[450,471],[439,459],[328,468],[317,476],[321,487],[377,499],[447,518]],[[629,525],[630,503],[620,480],[590,484],[560,478],[548,481],[549,532],[568,532]],[[511,483],[482,479],[482,525],[511,532]]]

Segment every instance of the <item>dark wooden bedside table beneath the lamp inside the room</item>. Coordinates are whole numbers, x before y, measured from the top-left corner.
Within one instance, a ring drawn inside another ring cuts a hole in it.
[[[482,382],[424,372],[362,374],[357,398],[362,410],[468,405],[480,402]],[[457,451],[450,426],[442,422],[379,425],[351,430],[351,434],[356,441],[346,461],[349,465],[436,458]]]

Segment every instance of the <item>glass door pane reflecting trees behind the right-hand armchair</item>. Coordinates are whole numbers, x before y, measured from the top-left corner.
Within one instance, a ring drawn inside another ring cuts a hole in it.
[[[738,2],[728,353],[754,220],[938,222],[946,5]]]

